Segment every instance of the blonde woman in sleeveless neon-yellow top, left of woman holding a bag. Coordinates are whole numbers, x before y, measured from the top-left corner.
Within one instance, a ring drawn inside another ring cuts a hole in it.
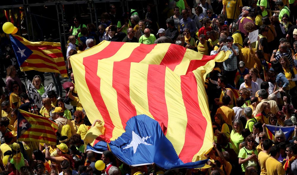
[[[244,140],[241,135],[241,131],[243,130],[243,126],[240,120],[235,120],[233,122],[232,131],[230,134],[230,141],[233,147],[233,150],[238,155],[239,153],[239,144]]]

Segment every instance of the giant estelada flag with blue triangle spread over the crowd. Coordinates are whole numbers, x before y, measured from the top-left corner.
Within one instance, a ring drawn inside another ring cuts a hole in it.
[[[213,142],[204,80],[229,54],[102,41],[71,56],[80,102],[91,122],[102,122],[86,134],[88,147],[102,152],[108,143],[132,166],[203,166]]]

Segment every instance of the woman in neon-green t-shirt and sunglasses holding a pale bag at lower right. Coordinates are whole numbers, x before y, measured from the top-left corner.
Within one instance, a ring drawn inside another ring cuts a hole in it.
[[[252,135],[245,138],[244,147],[239,150],[238,158],[242,172],[245,172],[248,166],[254,166],[256,170],[258,169],[258,151]]]

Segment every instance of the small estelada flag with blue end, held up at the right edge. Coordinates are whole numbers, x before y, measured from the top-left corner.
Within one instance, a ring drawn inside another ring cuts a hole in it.
[[[266,132],[268,138],[274,140],[274,134],[276,131],[282,131],[285,134],[286,140],[292,138],[292,134],[294,132],[295,126],[273,126],[273,125],[266,125]]]

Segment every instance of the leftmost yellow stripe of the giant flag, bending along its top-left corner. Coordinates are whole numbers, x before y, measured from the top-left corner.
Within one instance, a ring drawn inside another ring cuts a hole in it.
[[[88,109],[86,110],[86,114],[88,115],[89,121],[91,123],[93,123],[96,119],[99,119],[104,123],[104,120],[97,106],[92,101],[93,98],[91,96],[88,85],[86,84],[86,70],[85,66],[83,65],[83,58],[101,52],[109,44],[110,42],[102,41],[100,44],[92,47],[92,49],[88,49],[84,52],[81,52],[80,54],[75,54],[70,57],[71,65],[74,65],[72,67],[72,70],[75,77],[75,83],[80,85],[76,87],[76,90],[78,91],[78,94],[83,94],[79,96],[79,100],[81,104],[86,106],[86,108]]]

